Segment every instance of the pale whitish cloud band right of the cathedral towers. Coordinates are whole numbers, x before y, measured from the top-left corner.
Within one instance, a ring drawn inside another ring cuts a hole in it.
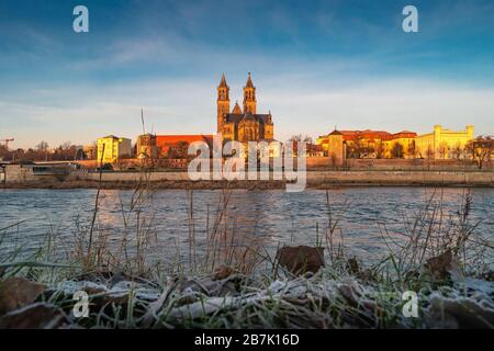
[[[263,102],[271,106],[283,137],[291,131],[317,136],[335,125],[341,129],[426,133],[435,124],[454,129],[474,124],[479,134],[494,133],[494,90],[485,88],[391,79],[321,91],[281,89],[265,95]]]

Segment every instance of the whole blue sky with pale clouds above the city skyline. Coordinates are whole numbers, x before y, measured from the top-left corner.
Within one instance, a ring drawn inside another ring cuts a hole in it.
[[[72,31],[89,9],[90,32]],[[419,33],[402,31],[414,4]],[[232,105],[247,72],[276,137],[334,128],[494,134],[494,2],[0,2],[0,138],[13,147],[215,132],[222,72]]]

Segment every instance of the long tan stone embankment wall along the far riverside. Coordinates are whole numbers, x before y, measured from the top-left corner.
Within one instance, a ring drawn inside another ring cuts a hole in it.
[[[359,160],[361,161],[361,160]],[[375,161],[375,160],[374,160]],[[272,173],[270,173],[272,180]],[[93,186],[100,179],[99,172],[72,171],[68,176],[35,174],[32,166],[10,165],[5,167],[7,184],[26,184],[30,186],[49,186],[50,184],[66,184],[67,188]],[[187,171],[160,172],[102,172],[102,182],[109,185],[136,184],[138,181],[178,182],[182,185],[191,182]],[[327,185],[464,185],[494,186],[493,170],[383,170],[383,169],[340,169],[340,170],[310,170],[307,184],[311,186]],[[205,182],[209,183],[209,182]],[[213,183],[213,182],[211,182]],[[244,183],[255,184],[254,181]],[[270,182],[277,183],[277,182]],[[171,188],[173,185],[170,185]],[[243,185],[239,185],[242,188]]]

